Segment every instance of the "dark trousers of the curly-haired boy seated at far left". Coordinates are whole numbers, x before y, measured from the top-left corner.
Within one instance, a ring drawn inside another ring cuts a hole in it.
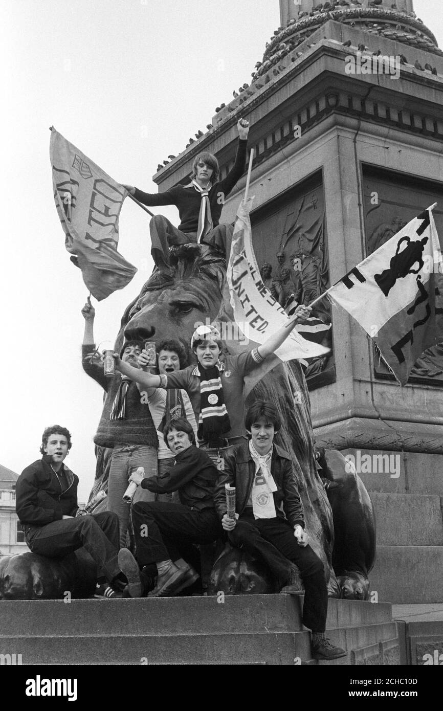
[[[112,582],[120,572],[119,519],[112,511],[30,526],[26,542],[33,553],[48,558],[63,558],[83,546],[97,563],[97,577]]]

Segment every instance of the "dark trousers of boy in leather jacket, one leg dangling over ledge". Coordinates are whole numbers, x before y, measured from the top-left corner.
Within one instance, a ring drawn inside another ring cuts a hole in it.
[[[310,545],[298,545],[289,521],[278,516],[255,519],[252,511],[247,511],[237,520],[228,538],[251,557],[267,563],[282,587],[289,581],[289,561],[295,563],[305,589],[303,624],[314,632],[324,632],[328,609],[324,565]]]

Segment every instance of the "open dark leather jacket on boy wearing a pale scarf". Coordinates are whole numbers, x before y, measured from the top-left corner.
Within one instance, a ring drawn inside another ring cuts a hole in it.
[[[270,470],[277,485],[277,491],[273,493],[277,516],[284,518],[286,514],[292,526],[299,524],[304,528],[303,504],[292,468],[292,459],[278,444],[273,447]],[[223,452],[223,459],[225,471],[219,472],[214,496],[215,510],[220,518],[227,513],[225,484],[235,486],[235,510],[241,515],[250,497],[255,475],[255,462],[248,442],[227,449]]]

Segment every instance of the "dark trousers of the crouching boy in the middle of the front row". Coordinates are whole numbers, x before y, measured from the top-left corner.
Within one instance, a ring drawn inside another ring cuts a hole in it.
[[[131,508],[134,555],[140,566],[184,557],[192,543],[211,543],[222,535],[213,508],[203,511],[181,503],[139,501]]]

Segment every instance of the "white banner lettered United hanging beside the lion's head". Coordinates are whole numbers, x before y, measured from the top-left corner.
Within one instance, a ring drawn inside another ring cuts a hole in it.
[[[287,324],[289,317],[266,289],[260,277],[252,247],[249,217],[252,199],[250,198],[246,205],[242,201],[238,208],[226,276],[237,326],[247,338],[261,344]],[[306,341],[297,330],[292,331],[282,346],[275,351],[280,360],[305,360],[325,353],[329,353],[329,348],[324,348],[315,341]]]

